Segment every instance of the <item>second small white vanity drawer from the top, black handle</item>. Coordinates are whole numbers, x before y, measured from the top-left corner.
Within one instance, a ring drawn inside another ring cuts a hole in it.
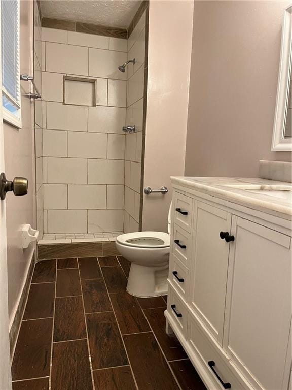
[[[172,253],[189,269],[192,250],[190,233],[181,229],[180,226],[174,223],[171,239]]]

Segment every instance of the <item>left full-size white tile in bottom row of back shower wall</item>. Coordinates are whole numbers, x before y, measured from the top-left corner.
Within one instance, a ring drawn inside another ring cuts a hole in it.
[[[48,210],[49,233],[87,233],[87,210]]]

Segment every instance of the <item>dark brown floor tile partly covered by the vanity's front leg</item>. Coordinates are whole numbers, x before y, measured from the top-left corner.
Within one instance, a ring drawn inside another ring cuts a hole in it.
[[[165,308],[147,309],[144,313],[150,323],[151,328],[165,353],[167,360],[185,359],[187,354],[177,340],[174,333],[167,335],[165,333]]]

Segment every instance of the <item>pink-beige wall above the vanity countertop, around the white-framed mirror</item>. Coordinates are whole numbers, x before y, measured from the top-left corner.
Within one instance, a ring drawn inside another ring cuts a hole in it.
[[[186,176],[258,175],[271,152],[282,1],[195,1]]]

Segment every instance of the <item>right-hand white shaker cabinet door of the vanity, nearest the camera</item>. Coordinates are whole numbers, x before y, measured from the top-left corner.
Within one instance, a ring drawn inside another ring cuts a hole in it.
[[[287,389],[291,238],[236,216],[232,232],[224,348],[255,388]]]

